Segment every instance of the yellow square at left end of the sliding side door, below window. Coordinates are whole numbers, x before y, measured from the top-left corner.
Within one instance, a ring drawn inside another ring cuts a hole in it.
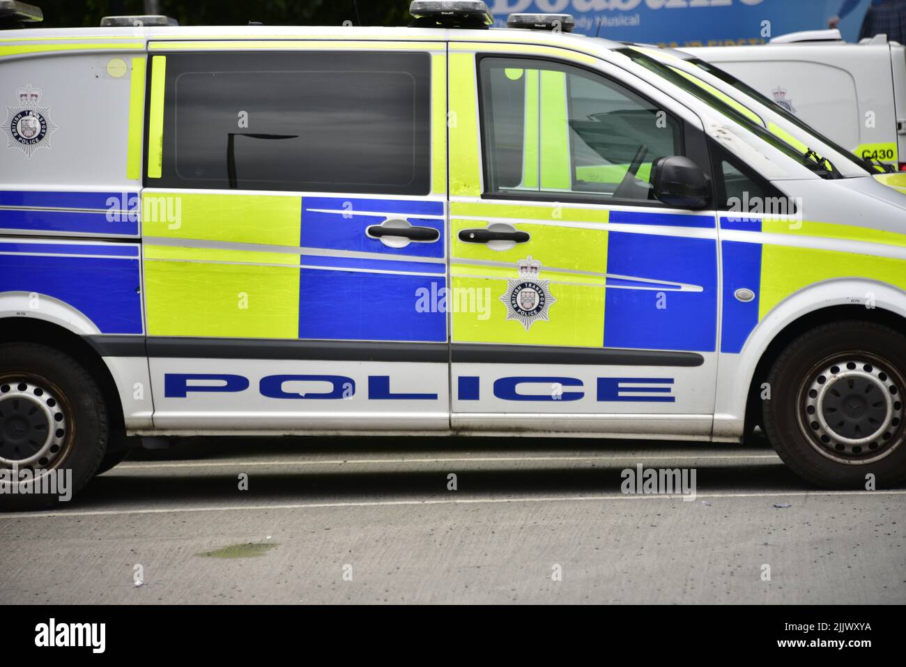
[[[299,197],[147,193],[142,233],[149,334],[296,338],[297,254],[199,246],[298,247],[301,216]],[[155,245],[154,237],[178,245]]]

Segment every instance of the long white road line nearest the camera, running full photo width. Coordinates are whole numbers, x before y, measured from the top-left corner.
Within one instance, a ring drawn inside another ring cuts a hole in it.
[[[903,496],[906,489],[889,491],[775,491],[771,493],[698,493],[699,498],[821,498],[827,496]],[[602,502],[606,500],[650,500],[650,499],[679,500],[686,498],[681,494],[663,495],[630,495],[619,496],[554,496],[544,498],[463,498],[459,500],[375,500],[344,503],[298,503],[294,505],[232,505],[226,507],[162,507],[159,509],[98,509],[74,510],[72,512],[5,512],[0,513],[2,518],[47,518],[47,517],[109,517],[125,514],[182,514],[185,512],[233,512],[244,511],[270,511],[272,509],[323,509],[341,507],[417,507],[428,505],[496,505],[501,503],[556,503],[556,502]]]

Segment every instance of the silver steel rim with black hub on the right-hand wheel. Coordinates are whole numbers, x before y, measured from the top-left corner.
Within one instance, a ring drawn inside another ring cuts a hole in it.
[[[851,465],[883,459],[903,441],[903,386],[888,362],[863,353],[835,355],[803,384],[800,426],[828,459]]]

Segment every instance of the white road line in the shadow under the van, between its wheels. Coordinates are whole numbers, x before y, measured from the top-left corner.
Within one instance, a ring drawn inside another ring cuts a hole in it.
[[[704,456],[533,456],[533,457],[458,457],[448,459],[326,459],[326,460],[280,460],[273,461],[180,461],[172,463],[134,462],[120,463],[112,470],[122,469],[159,469],[159,468],[250,468],[254,466],[338,466],[354,464],[390,464],[390,463],[515,463],[518,461],[625,461],[625,460],[718,460],[718,459],[773,459],[780,462],[776,454],[728,454]]]

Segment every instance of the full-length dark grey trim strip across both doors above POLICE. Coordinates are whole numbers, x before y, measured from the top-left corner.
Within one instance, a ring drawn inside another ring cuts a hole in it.
[[[583,366],[680,366],[705,362],[698,353],[602,350],[577,347],[486,345],[474,343],[384,343],[294,341],[259,338],[85,336],[106,357],[177,359],[286,359],[328,362],[553,363]]]

